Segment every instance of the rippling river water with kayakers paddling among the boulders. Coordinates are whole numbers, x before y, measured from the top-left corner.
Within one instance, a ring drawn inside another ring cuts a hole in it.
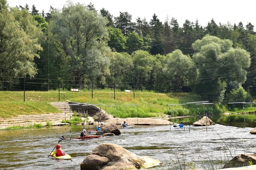
[[[191,117],[189,121],[192,122],[192,120],[197,121],[197,117]],[[225,120],[230,120],[230,117]],[[181,119],[172,119],[172,122],[179,121]],[[189,125],[187,119],[184,119],[183,122]],[[71,130],[69,126],[61,126],[0,131],[0,169],[80,170],[80,163],[83,159],[101,143],[115,143],[139,156],[145,155],[160,160],[161,165],[153,167],[154,170],[180,169],[181,163],[177,162],[190,163],[196,168],[220,169],[225,161],[238,154],[256,152],[255,135],[249,133],[256,127],[255,121],[249,121],[246,124],[240,122],[236,124],[238,126],[233,126],[232,123],[228,126],[228,123],[220,121],[213,126],[189,126],[186,129],[176,129],[172,125],[134,126],[132,129],[120,129],[121,135],[119,136],[105,136],[88,140],[70,140],[70,137],[80,136],[82,127],[78,125],[71,126]],[[95,125],[85,128],[96,129]],[[62,135],[64,140],[60,142],[61,148],[73,159],[47,158]],[[183,165],[182,169],[184,169]]]

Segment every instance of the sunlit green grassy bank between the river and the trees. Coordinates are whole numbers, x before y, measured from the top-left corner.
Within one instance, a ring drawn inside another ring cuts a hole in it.
[[[26,114],[45,114],[58,113],[58,109],[53,107],[48,102],[59,101],[74,101],[74,102],[89,102],[90,104],[100,104],[103,110],[109,114],[124,118],[128,117],[155,117],[162,114],[180,115],[196,114],[198,107],[202,110],[202,105],[185,104],[167,106],[167,104],[181,104],[187,102],[204,101],[200,96],[194,93],[154,93],[147,91],[121,92],[111,90],[94,90],[93,95],[91,91],[26,91],[25,102],[24,92],[0,91],[0,117],[10,118],[17,115]],[[115,98],[115,99],[114,99]],[[184,106],[184,108],[183,108]],[[210,106],[210,105],[209,105]],[[208,107],[207,112],[208,112]],[[214,113],[223,113],[229,108],[225,105],[213,104]],[[189,111],[188,111],[189,110]],[[255,108],[249,108],[255,110]],[[248,110],[247,110],[248,111]],[[236,112],[243,113],[243,108],[236,109]]]

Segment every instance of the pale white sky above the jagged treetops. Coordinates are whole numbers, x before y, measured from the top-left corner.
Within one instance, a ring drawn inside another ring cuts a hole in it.
[[[7,2],[10,7],[25,6],[27,3],[30,9],[34,4],[39,12],[44,9],[46,13],[50,6],[61,9],[66,0],[7,0]],[[195,22],[198,19],[199,24],[203,27],[206,27],[211,19],[214,19],[218,25],[227,22],[238,25],[241,21],[244,26],[249,22],[256,26],[255,0],[72,0],[72,2],[84,3],[85,5],[91,2],[96,10],[100,11],[104,8],[113,17],[118,17],[120,12],[127,11],[131,14],[133,22],[136,22],[138,17],[140,19],[146,18],[146,21],[150,22],[155,13],[162,23],[167,17],[177,19],[180,27],[183,26],[186,19],[190,22]]]

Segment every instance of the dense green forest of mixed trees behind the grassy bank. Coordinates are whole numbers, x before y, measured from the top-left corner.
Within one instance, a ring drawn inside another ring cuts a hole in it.
[[[249,22],[150,21],[67,1],[39,12],[0,0],[0,90],[62,88],[194,92],[210,102],[256,98]]]

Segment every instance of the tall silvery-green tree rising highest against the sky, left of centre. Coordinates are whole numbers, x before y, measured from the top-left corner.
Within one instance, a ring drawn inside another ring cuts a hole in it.
[[[104,82],[109,74],[111,52],[107,48],[107,18],[83,4],[68,1],[62,11],[52,13],[52,32],[63,57],[63,68],[75,84],[97,78]]]

